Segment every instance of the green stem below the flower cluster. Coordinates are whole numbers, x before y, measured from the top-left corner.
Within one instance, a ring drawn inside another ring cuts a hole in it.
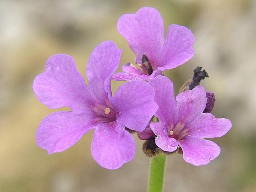
[[[148,192],[163,191],[165,161],[166,155],[164,154],[159,154],[156,157],[151,158]]]

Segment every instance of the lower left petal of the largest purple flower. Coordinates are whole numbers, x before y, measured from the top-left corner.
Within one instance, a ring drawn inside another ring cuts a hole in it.
[[[93,128],[90,118],[85,114],[55,112],[41,121],[36,133],[36,142],[40,148],[46,149],[48,154],[62,152]]]

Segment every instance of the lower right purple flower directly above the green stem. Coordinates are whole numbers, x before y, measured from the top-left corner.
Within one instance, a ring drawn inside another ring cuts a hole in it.
[[[219,146],[204,138],[221,137],[232,124],[228,119],[203,113],[206,107],[203,86],[181,92],[175,100],[173,84],[168,78],[157,76],[149,83],[155,89],[159,107],[155,114],[159,122],[150,124],[156,145],[168,152],[180,146],[183,159],[197,166],[215,159],[220,153]]]

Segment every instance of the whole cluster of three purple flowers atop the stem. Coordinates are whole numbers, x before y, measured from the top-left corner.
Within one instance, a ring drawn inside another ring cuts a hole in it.
[[[192,32],[170,25],[164,40],[163,19],[151,7],[121,16],[117,30],[136,55],[135,64],[124,65],[123,72],[114,73],[121,50],[112,41],[99,44],[90,55],[88,85],[71,56],[58,54],[47,60],[45,72],[34,80],[34,92],[49,108],[68,106],[71,111],[44,118],[36,133],[37,145],[49,154],[62,152],[94,129],[93,158],[104,168],[117,169],[135,155],[133,130],[163,152],[181,148],[183,159],[193,165],[216,158],[219,146],[204,138],[223,136],[232,125],[209,113],[213,93],[197,85],[175,99],[173,83],[163,76],[164,70],[194,55]],[[112,95],[111,79],[130,81]],[[158,121],[152,122],[154,118]]]

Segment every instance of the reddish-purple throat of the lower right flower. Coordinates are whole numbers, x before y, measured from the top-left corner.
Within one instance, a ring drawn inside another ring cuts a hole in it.
[[[178,122],[175,126],[171,125],[169,127],[168,135],[176,140],[182,140],[188,133],[188,129],[185,124]]]

